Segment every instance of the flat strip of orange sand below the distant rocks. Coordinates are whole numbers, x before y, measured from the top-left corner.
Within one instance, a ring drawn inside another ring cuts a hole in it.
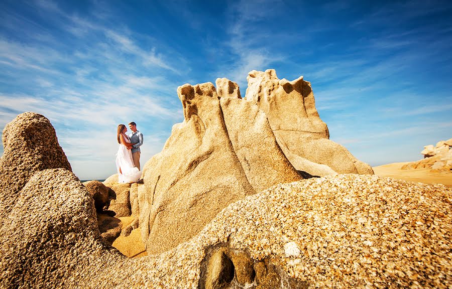
[[[432,173],[430,169],[402,170],[406,163],[394,163],[374,167],[375,175],[424,184],[443,184],[452,187],[452,173]]]

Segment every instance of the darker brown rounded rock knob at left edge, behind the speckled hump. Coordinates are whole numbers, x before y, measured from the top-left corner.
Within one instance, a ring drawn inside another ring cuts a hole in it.
[[[61,149],[50,121],[41,114],[24,112],[8,123],[2,135],[0,159],[0,220],[8,215],[19,191],[36,173],[71,165]]]

